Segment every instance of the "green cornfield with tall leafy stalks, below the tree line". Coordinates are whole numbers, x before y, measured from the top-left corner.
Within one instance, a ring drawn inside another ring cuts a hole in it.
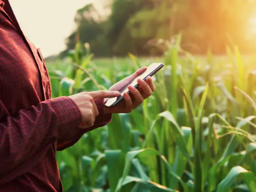
[[[256,192],[256,58],[235,46],[195,57],[179,42],[162,58],[108,61],[81,56],[77,44],[68,61],[47,64],[52,97],[108,89],[165,64],[136,110],[57,152],[65,192]]]

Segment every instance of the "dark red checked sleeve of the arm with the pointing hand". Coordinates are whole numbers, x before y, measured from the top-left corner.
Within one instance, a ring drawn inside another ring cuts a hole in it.
[[[0,174],[8,173],[38,152],[46,151],[80,122],[81,112],[68,97],[40,102],[13,116],[0,114]]]

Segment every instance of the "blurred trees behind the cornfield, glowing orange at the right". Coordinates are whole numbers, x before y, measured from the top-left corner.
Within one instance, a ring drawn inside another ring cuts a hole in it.
[[[93,4],[79,9],[77,25],[66,41],[67,49],[76,43],[89,43],[95,56],[161,55],[154,46],[159,40],[172,40],[181,32],[181,47],[193,54],[223,54],[226,46],[239,46],[241,52],[255,49],[256,24],[250,25],[254,1],[250,0],[112,0],[111,11],[102,16]],[[256,19],[256,14],[255,19]],[[254,27],[254,28],[253,28]],[[254,31],[253,31],[254,29]],[[255,34],[254,34],[255,32]]]

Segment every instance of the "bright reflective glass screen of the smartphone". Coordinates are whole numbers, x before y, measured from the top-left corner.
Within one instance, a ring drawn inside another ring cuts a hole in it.
[[[159,70],[161,67],[163,67],[162,63],[153,63],[151,65],[148,66],[147,70],[145,70],[145,72],[143,74],[141,74],[140,76],[136,77],[133,81],[131,81],[131,85],[133,87],[135,87],[138,83],[137,83],[137,79],[144,79],[147,78],[148,76],[151,76],[151,74],[154,74],[157,70]],[[121,90],[119,90],[120,92],[120,96],[117,97],[113,97],[108,99],[107,101],[105,101],[104,105],[107,107],[110,107],[111,105],[113,105],[116,101],[118,101],[118,99],[120,99],[123,96],[123,93],[128,92],[128,85],[127,84],[125,87],[123,87]]]

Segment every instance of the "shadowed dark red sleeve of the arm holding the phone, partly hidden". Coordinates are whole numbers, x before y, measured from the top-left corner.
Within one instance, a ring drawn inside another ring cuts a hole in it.
[[[79,139],[82,137],[83,134],[87,133],[88,131],[92,131],[96,128],[103,127],[111,122],[112,120],[112,114],[105,115],[103,113],[103,99],[99,99],[95,101],[99,115],[96,116],[94,125],[87,129],[73,129],[72,131],[68,131],[67,134],[65,134],[63,137],[58,139],[58,151],[62,151],[65,148],[68,148],[72,145],[74,145],[76,142],[79,141]]]

